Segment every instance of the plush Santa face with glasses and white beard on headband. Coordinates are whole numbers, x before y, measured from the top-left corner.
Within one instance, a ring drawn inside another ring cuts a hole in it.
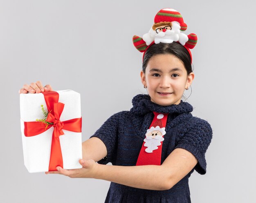
[[[146,45],[155,40],[155,44],[178,41],[184,46],[189,38],[184,33],[180,33],[180,29],[180,23],[176,21],[157,23],[157,26],[153,25],[148,33],[143,35],[142,39],[146,42]]]

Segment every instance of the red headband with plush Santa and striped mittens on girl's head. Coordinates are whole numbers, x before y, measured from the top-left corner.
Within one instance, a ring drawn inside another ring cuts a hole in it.
[[[179,42],[188,50],[192,64],[190,49],[195,47],[198,38],[194,33],[185,35],[180,32],[186,29],[187,25],[184,23],[180,13],[174,9],[165,8],[155,15],[154,24],[148,33],[144,34],[142,38],[134,35],[132,42],[138,51],[143,52],[143,58],[146,50],[152,44]]]

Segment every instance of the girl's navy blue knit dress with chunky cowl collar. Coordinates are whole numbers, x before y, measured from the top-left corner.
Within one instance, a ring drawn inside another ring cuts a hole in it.
[[[198,159],[195,168],[169,190],[146,190],[118,183],[110,183],[105,203],[190,203],[189,177],[196,170],[206,173],[205,152],[212,139],[210,124],[191,114],[193,107],[180,104],[160,106],[150,101],[149,95],[136,95],[130,111],[112,115],[91,137],[105,143],[107,156],[98,163],[122,166],[136,165],[146,130],[154,114],[169,113],[166,135],[162,143],[161,164],[175,148],[184,148]]]

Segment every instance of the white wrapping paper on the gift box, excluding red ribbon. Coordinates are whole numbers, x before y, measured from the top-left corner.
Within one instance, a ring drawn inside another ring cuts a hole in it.
[[[73,90],[59,90],[58,102],[65,104],[60,121],[66,121],[81,117],[80,94]],[[24,135],[24,121],[36,121],[43,119],[41,106],[47,110],[45,98],[42,93],[20,94],[20,126],[24,164],[30,173],[46,172],[49,169],[51,154],[52,132],[54,127],[32,137]],[[63,130],[64,135],[59,137],[64,169],[82,168],[79,159],[82,159],[82,135],[81,132]]]

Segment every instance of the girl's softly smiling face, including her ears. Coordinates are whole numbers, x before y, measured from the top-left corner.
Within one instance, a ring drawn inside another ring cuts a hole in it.
[[[194,73],[187,75],[182,61],[172,54],[152,56],[141,71],[141,82],[147,86],[151,101],[161,106],[180,104],[185,88],[194,79]]]

